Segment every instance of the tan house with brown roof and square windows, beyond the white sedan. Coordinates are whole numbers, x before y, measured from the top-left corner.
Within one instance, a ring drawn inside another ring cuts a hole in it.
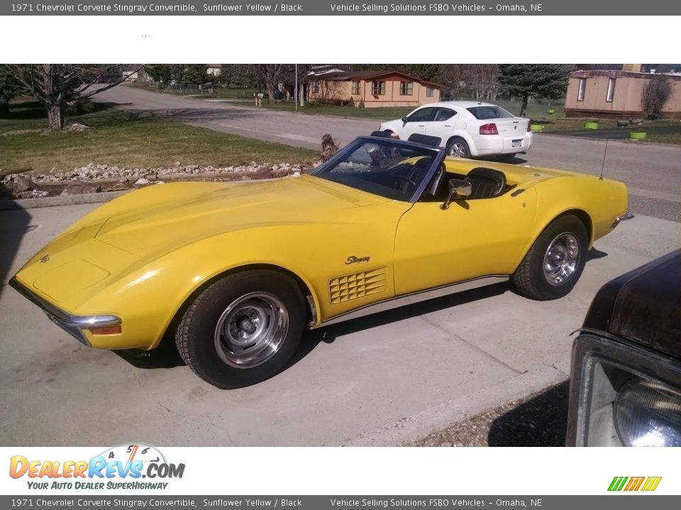
[[[308,100],[325,104],[421,106],[440,101],[442,85],[399,71],[363,71],[310,77]]]

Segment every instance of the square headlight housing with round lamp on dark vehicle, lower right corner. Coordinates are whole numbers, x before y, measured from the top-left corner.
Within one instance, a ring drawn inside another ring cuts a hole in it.
[[[568,446],[681,446],[681,363],[582,332],[572,347]]]

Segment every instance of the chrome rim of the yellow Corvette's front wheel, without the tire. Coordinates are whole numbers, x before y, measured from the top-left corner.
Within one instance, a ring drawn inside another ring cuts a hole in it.
[[[236,368],[253,368],[275,356],[289,329],[284,303],[270,293],[238,297],[222,312],[215,346],[222,360]]]

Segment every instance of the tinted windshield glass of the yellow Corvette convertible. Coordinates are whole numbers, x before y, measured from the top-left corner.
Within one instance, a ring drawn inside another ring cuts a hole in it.
[[[392,200],[409,202],[436,152],[391,140],[355,140],[312,175]]]

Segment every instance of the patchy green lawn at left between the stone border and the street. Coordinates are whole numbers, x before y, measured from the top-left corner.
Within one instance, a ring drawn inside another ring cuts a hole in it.
[[[0,118],[0,169],[8,171],[72,170],[89,163],[121,167],[201,164],[228,166],[265,163],[308,163],[319,152],[272,142],[194,128],[161,118],[140,118],[114,109],[67,118],[90,129],[48,132],[45,111],[37,103],[11,106],[9,118]],[[7,134],[21,130],[35,130]],[[6,136],[1,136],[6,133]],[[320,148],[321,150],[321,148]]]

